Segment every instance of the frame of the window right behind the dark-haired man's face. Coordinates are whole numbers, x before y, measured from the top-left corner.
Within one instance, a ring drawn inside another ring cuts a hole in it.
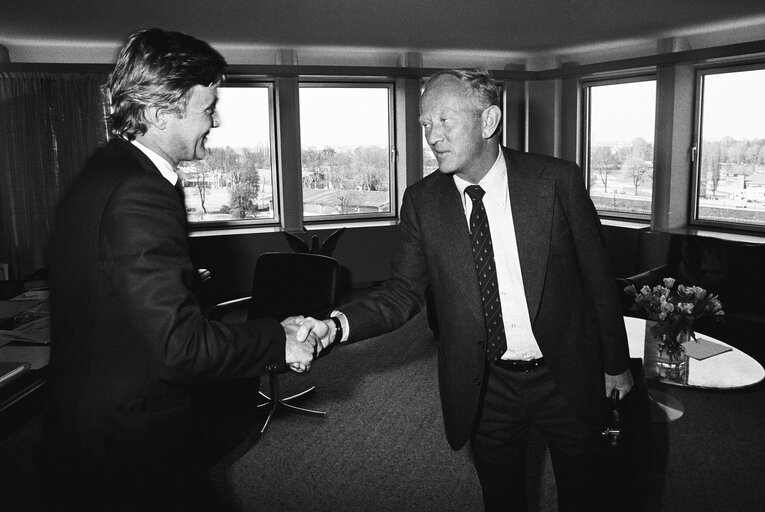
[[[276,134],[276,107],[275,107],[275,84],[274,80],[270,78],[261,77],[248,77],[237,75],[226,75],[226,80],[219,86],[219,90],[229,88],[265,88],[268,90],[268,131],[269,131],[269,152],[271,160],[271,195],[273,203],[274,217],[268,219],[231,219],[231,220],[216,220],[209,222],[192,222],[188,221],[189,233],[194,235],[201,235],[207,232],[236,232],[243,229],[257,229],[257,228],[278,228],[281,223],[281,189],[279,183],[278,168],[278,140]]]

